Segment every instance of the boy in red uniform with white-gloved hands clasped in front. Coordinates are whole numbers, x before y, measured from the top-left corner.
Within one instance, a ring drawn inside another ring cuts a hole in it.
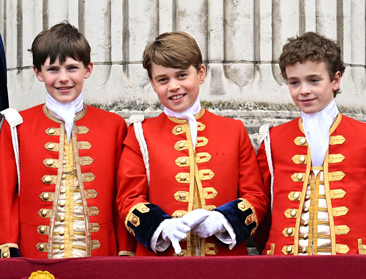
[[[161,34],[143,66],[164,113],[142,122],[142,138],[129,127],[121,157],[117,203],[136,255],[246,255],[268,200],[245,127],[201,107],[206,67],[187,33]]]

